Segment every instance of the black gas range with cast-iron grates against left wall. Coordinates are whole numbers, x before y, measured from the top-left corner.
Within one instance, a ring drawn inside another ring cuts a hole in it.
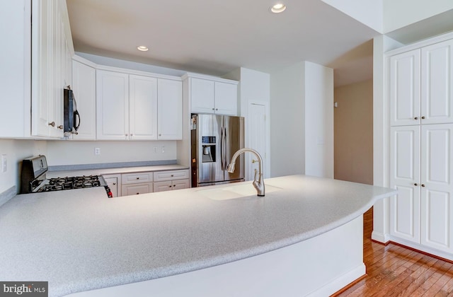
[[[35,156],[24,159],[22,161],[21,170],[21,194],[84,189],[86,187],[104,187],[108,197],[112,197],[112,192],[102,175],[55,177],[47,179],[47,170],[47,160],[45,156]]]

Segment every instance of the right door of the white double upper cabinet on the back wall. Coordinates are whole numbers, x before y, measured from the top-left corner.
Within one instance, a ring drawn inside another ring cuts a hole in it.
[[[157,139],[157,78],[129,76],[130,139]]]

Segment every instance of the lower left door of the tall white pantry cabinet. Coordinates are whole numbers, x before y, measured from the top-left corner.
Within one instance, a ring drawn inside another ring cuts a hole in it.
[[[390,234],[420,243],[420,126],[391,127]]]

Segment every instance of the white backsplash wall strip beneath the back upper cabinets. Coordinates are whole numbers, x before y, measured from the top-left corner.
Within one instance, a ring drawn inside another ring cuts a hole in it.
[[[95,155],[94,148],[101,148],[101,154]],[[52,166],[176,160],[176,150],[176,141],[47,141],[47,163]]]

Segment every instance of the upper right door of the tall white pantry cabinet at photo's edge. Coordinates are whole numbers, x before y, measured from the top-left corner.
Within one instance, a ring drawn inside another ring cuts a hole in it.
[[[453,40],[422,48],[423,124],[453,122]]]

